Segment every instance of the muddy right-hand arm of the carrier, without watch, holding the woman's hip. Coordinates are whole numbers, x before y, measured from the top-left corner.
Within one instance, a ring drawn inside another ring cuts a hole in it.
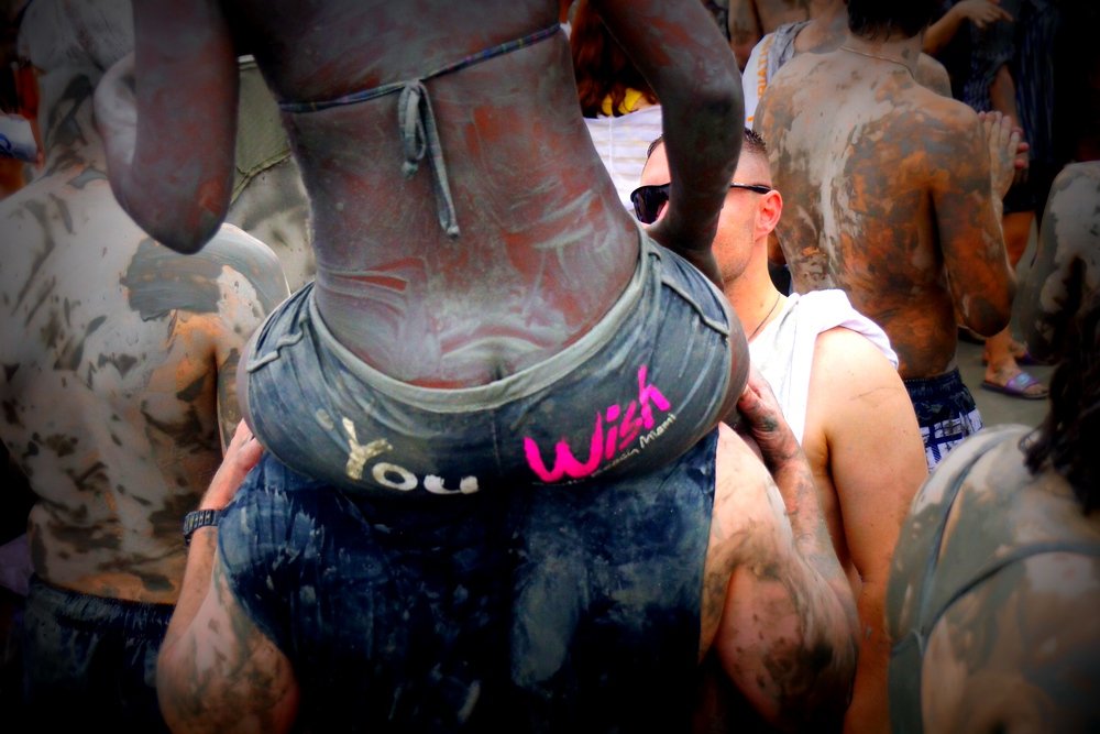
[[[776,479],[723,426],[712,523],[729,539],[733,573],[714,646],[726,673],[770,723],[835,730],[856,667],[851,589],[810,467],[759,375],[750,377],[738,409]]]

